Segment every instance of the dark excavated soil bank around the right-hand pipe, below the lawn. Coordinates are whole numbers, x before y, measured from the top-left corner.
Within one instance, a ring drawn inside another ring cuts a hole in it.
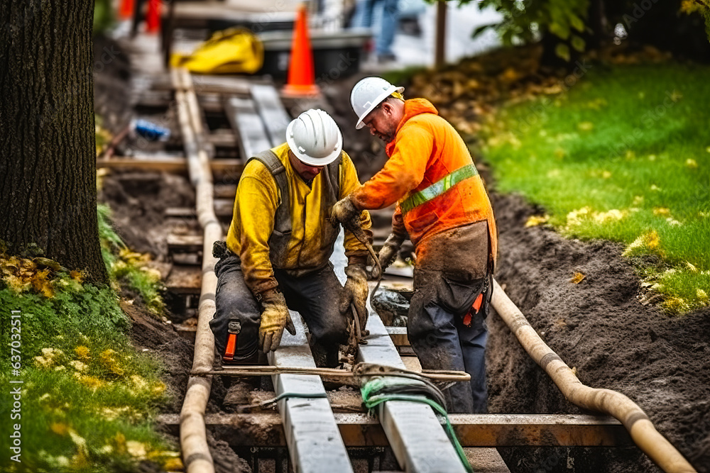
[[[519,196],[492,198],[501,249],[496,279],[506,284],[506,293],[532,327],[567,365],[577,368],[581,382],[629,396],[699,472],[710,472],[710,311],[679,317],[644,306],[638,301],[638,277],[621,257],[620,246],[565,240],[550,228],[525,228],[535,208]],[[586,276],[580,284],[569,281],[574,272]],[[500,318],[492,316],[488,326],[491,412],[580,412]],[[522,468],[517,471],[531,471],[531,466],[540,467],[540,459],[553,457],[559,461],[545,463],[543,471],[569,471],[565,458],[570,455],[575,472],[598,472],[600,466],[603,471],[660,471],[633,451],[608,453],[609,462],[599,465],[579,461],[585,449],[555,449],[553,454],[537,449],[532,455],[530,449],[525,455],[523,449],[501,450],[511,471],[515,463]]]

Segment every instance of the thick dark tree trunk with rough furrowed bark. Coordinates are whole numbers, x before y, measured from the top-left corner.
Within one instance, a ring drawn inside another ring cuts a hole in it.
[[[0,0],[0,240],[105,283],[93,11],[93,0]]]

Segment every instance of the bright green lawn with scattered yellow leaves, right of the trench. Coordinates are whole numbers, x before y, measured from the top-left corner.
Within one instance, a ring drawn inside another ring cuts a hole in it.
[[[481,146],[500,191],[572,238],[657,255],[640,265],[668,311],[710,294],[710,67],[594,65],[576,85],[501,108]],[[648,260],[648,258],[645,258]]]

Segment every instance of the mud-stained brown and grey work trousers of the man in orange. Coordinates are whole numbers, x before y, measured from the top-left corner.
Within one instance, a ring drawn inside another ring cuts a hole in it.
[[[436,247],[422,252],[426,258],[417,258],[407,333],[423,369],[454,369],[471,375],[470,383],[459,382],[444,391],[449,412],[485,413],[490,284],[470,327],[463,317],[489,278],[488,225],[479,222],[457,228],[438,240],[428,243]]]

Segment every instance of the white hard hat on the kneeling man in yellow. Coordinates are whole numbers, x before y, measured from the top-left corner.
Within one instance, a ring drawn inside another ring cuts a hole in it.
[[[343,135],[331,116],[311,108],[288,124],[286,143],[305,164],[325,166],[343,150]]]

